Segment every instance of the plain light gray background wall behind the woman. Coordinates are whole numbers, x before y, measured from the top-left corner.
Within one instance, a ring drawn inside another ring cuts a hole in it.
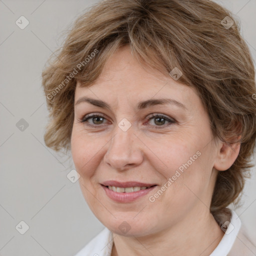
[[[47,109],[41,71],[62,41],[60,34],[93,0],[0,0],[0,254],[74,255],[103,225],[88,208],[66,155],[43,141]],[[256,59],[256,0],[219,0],[240,18]],[[21,30],[15,21],[24,15]],[[24,118],[29,126],[20,131]],[[255,159],[255,157],[254,157]],[[236,209],[256,241],[256,176],[246,183],[244,205]],[[160,217],[160,216],[159,216]],[[22,235],[15,226],[25,221]]]

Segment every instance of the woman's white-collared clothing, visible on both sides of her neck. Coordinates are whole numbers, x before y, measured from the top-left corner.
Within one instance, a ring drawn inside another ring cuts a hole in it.
[[[209,256],[255,256],[256,247],[247,237],[246,231],[240,228],[239,217],[233,210],[230,210],[230,213],[231,218],[228,220],[223,215],[219,218],[219,223],[225,233]],[[225,227],[227,227],[226,230]],[[111,256],[112,246],[113,234],[105,227],[75,256]]]

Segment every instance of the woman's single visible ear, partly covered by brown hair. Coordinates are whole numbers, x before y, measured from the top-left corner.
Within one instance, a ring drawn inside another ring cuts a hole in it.
[[[240,140],[241,135],[238,136]],[[227,170],[235,161],[240,151],[240,142],[227,144],[225,142],[219,142],[217,146],[217,155],[213,167],[216,170]]]

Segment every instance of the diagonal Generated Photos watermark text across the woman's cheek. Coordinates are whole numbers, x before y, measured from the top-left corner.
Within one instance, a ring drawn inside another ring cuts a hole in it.
[[[158,198],[181,174],[183,173],[184,168],[187,169],[197,158],[201,155],[200,151],[197,151],[193,156],[190,156],[189,160],[186,163],[183,163],[176,169],[175,174],[168,178],[167,182],[165,182],[160,189],[157,190],[153,195],[148,197],[150,202],[154,202],[156,198]]]

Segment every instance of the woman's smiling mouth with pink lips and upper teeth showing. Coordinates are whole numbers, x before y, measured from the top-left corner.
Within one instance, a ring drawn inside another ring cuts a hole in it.
[[[118,182],[111,180],[101,183],[101,186],[105,194],[111,200],[116,202],[132,202],[153,190],[157,184],[134,181]]]

